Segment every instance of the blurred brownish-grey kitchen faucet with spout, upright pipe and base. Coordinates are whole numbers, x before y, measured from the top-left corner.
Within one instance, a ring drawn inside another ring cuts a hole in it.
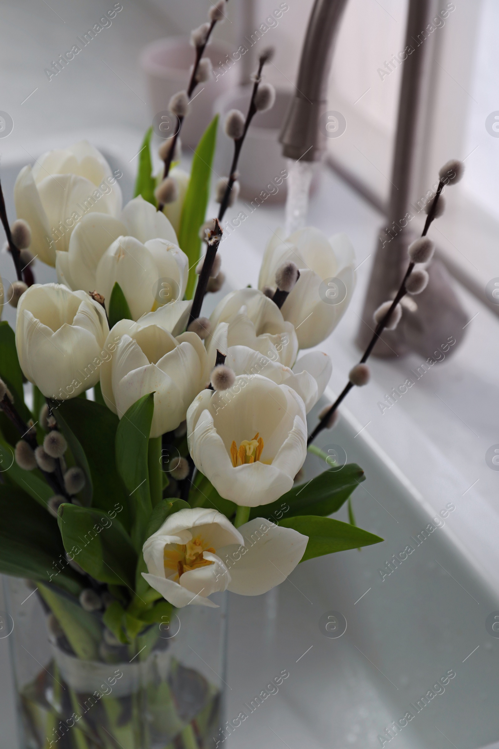
[[[317,161],[326,148],[325,121],[328,115],[327,83],[334,39],[346,0],[315,0],[301,50],[295,95],[290,103],[280,142],[283,154],[293,160]],[[438,11],[438,0],[410,0],[405,46],[426,28]],[[420,110],[428,96],[429,62],[433,40],[426,39],[408,55],[402,70],[397,135],[391,175],[391,196],[386,225],[380,230],[370,284],[364,301],[361,327],[356,342],[365,348],[373,334],[373,312],[385,300],[394,298],[407,269],[407,247],[414,232],[401,226],[411,198],[424,138]],[[449,154],[454,156],[455,154]],[[435,175],[436,176],[436,175]],[[388,231],[389,229],[389,231]],[[385,330],[373,354],[398,357],[413,351],[431,357],[450,336],[456,344],[464,336],[468,315],[462,308],[450,274],[440,260],[427,268],[429,284],[422,294],[409,297],[396,330]],[[453,350],[457,345],[453,345]]]

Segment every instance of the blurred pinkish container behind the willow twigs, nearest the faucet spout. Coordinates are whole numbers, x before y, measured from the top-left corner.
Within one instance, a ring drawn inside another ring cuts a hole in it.
[[[218,175],[228,174],[233,157],[233,141],[224,133],[225,115],[230,109],[240,109],[246,115],[252,88],[252,85],[233,88],[218,97],[213,105],[213,113],[220,115],[215,152],[215,172]],[[272,109],[257,112],[251,121],[238,166],[240,194],[245,200],[252,201],[263,191],[268,198],[264,198],[264,195],[261,197],[267,204],[284,203],[286,200],[288,164],[282,155],[279,133],[292,97],[293,91],[278,88]],[[312,190],[317,187],[317,174],[315,169]]]

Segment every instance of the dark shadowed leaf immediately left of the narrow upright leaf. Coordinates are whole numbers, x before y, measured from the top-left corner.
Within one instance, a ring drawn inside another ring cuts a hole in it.
[[[120,523],[129,530],[128,492],[117,472],[113,449],[120,423],[118,417],[107,407],[80,398],[58,403],[54,415],[56,419],[61,416],[85,453],[94,487],[92,506],[105,512],[121,507]]]

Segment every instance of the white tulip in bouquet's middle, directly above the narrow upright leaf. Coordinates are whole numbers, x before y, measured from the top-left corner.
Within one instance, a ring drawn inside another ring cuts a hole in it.
[[[200,337],[179,335],[191,304],[167,304],[136,323],[120,320],[108,335],[106,345],[116,345],[116,351],[100,369],[102,396],[121,419],[138,398],[154,392],[150,437],[176,429],[209,381],[208,357]]]

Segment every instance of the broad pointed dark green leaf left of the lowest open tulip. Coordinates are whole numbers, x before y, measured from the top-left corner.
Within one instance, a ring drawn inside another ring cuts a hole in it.
[[[101,583],[133,589],[137,555],[116,514],[65,503],[59,530],[67,553]]]

